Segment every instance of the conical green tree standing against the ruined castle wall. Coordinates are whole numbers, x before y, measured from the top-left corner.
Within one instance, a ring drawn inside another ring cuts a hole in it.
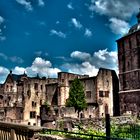
[[[75,111],[78,111],[78,117],[79,112],[87,107],[84,87],[78,78],[74,79],[73,82],[71,83],[69,98],[66,101],[66,106],[74,107]]]

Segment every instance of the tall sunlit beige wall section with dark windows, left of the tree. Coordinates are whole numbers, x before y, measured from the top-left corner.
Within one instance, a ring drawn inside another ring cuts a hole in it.
[[[31,78],[29,83],[24,85],[24,120],[31,125],[36,125],[38,122],[40,105],[45,102],[45,85],[46,81],[38,78]]]

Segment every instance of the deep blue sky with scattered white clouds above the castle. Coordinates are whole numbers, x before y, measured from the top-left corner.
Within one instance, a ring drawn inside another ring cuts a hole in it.
[[[1,0],[0,82],[10,69],[47,77],[117,71],[115,41],[139,7],[139,0]]]

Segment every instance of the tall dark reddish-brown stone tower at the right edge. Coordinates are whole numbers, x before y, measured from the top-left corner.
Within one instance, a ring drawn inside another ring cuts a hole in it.
[[[137,21],[117,40],[121,114],[140,115],[140,12]]]

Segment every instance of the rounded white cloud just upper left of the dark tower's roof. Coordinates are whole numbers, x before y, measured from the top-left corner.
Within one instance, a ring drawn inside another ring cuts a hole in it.
[[[110,18],[109,19],[110,25],[109,27],[111,28],[112,32],[115,34],[126,34],[130,28],[130,25],[121,19],[117,18]]]

